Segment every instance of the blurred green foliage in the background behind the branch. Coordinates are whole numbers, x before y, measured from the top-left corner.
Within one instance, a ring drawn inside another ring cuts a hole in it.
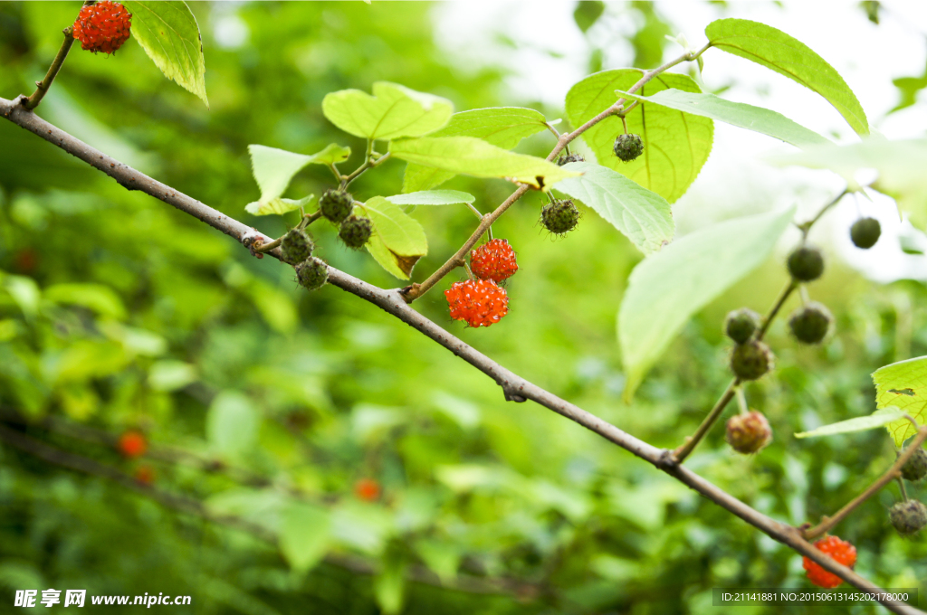
[[[0,95],[28,92],[42,77],[77,6],[0,4]],[[166,82],[130,41],[115,57],[72,52],[39,114],[272,235],[283,222],[244,212],[258,196],[248,144],[308,154],[337,141],[352,147],[352,162],[362,156],[361,140],[323,118],[324,94],[386,80],[446,96],[459,110],[530,102],[502,99],[500,71],[463,69],[443,56],[425,3],[192,7],[210,110]],[[645,21],[632,39],[634,59],[649,68],[669,30],[652,7],[635,3],[635,10]],[[563,113],[540,110],[548,118]],[[291,571],[273,543],[2,446],[2,609],[15,589],[56,587],[190,595],[193,606],[173,611],[197,614],[681,613],[710,609],[716,586],[806,584],[788,548],[578,425],[532,404],[505,403],[483,374],[376,307],[333,287],[299,292],[289,268],[250,257],[8,122],[0,122],[0,144],[4,420],[129,474],[151,465],[159,489],[269,533],[297,528],[306,535],[292,540],[306,549],[323,540],[331,556],[308,572]],[[540,133],[523,149],[538,154],[551,144]],[[359,180],[356,194],[396,194],[402,171],[391,161]],[[288,195],[320,194],[327,172],[307,169]],[[466,178],[447,187],[476,195],[484,210],[511,189]],[[768,307],[785,282],[781,263],[768,263],[692,320],[626,406],[616,307],[641,255],[590,211],[577,232],[552,241],[537,224],[542,205],[529,195],[495,225],[521,266],[508,286],[512,313],[501,324],[468,330],[451,321],[446,285],[416,307],[629,433],[678,446],[729,380],[724,314]],[[429,237],[420,280],[474,220],[464,207],[419,207],[413,215]],[[365,253],[338,245],[334,229],[314,234],[335,267],[395,285]],[[734,496],[796,524],[855,496],[894,455],[882,431],[805,441],[792,433],[870,413],[870,372],[927,354],[921,284],[874,288],[834,266],[814,295],[831,307],[838,333],[822,348],[802,348],[777,322],[770,341],[779,369],[748,388],[751,405],[772,423],[773,444],[738,457],[715,429],[690,461]],[[45,417],[113,435],[141,429],[153,449],[185,453],[127,460],[75,432],[46,429]],[[33,422],[23,426],[22,418]],[[243,481],[242,472],[266,484]],[[362,479],[381,486],[375,501],[355,495]],[[838,533],[857,545],[858,572],[922,592],[921,541],[900,539],[886,522],[895,497],[894,486],[884,490]],[[283,552],[296,569],[311,566],[293,559],[286,543]],[[344,565],[351,558],[381,572],[351,571]],[[404,571],[424,570],[502,580],[511,591],[402,583]]]

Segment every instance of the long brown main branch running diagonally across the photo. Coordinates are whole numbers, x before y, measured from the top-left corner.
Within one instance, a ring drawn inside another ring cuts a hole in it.
[[[256,231],[255,229],[242,224],[238,220],[230,218],[212,207],[200,203],[183,193],[172,189],[161,182],[158,182],[144,173],[141,173],[118,160],[108,157],[103,152],[96,150],[88,144],[74,138],[67,132],[57,129],[52,124],[39,118],[28,109],[22,107],[18,101],[10,101],[0,98],[0,115],[9,119],[21,128],[33,132],[46,141],[56,144],[64,151],[82,159],[96,169],[102,170],[108,176],[115,179],[121,185],[131,190],[141,190],[148,195],[154,196],[164,201],[172,207],[177,207],[181,211],[190,214],[218,229],[225,234],[235,237],[239,243],[245,246],[253,245],[255,240],[260,239],[262,242],[269,242],[270,238]],[[279,257],[279,252],[274,250],[269,254]],[[438,327],[437,324],[413,310],[401,295],[399,289],[385,290],[378,288],[367,282],[362,282],[357,278],[329,267],[329,282],[341,288],[352,295],[357,295],[369,301],[377,307],[382,308],[387,313],[395,316],[399,320],[412,326],[426,337],[434,340],[439,345],[444,346],[452,353],[463,358],[467,363],[482,371],[502,387],[505,398],[511,401],[523,402],[530,399],[544,408],[573,420],[578,424],[586,427],[591,432],[597,433],[609,442],[621,446],[630,453],[639,458],[648,461],[656,468],[667,472],[679,482],[684,483],[715,502],[718,506],[726,508],[734,515],[743,519],[750,525],[753,525],[763,533],[781,542],[784,545],[792,547],[799,554],[806,556],[817,562],[821,568],[831,571],[846,583],[852,584],[859,589],[867,590],[872,593],[880,593],[883,590],[877,585],[871,583],[868,579],[859,576],[856,572],[837,563],[830,557],[822,554],[814,546],[811,546],[801,535],[801,532],[794,527],[775,521],[763,513],[750,508],[734,496],[730,496],[717,485],[706,481],[693,471],[688,470],[672,460],[672,451],[658,449],[654,446],[635,438],[629,433],[625,433],[616,426],[590,414],[582,408],[553,395],[542,389],[534,383],[530,383],[524,378],[506,370],[500,364],[483,355],[475,348],[465,344],[462,340],[454,337]],[[924,614],[920,609],[915,609],[905,604],[883,602],[883,605],[900,615],[913,615],[915,613]]]

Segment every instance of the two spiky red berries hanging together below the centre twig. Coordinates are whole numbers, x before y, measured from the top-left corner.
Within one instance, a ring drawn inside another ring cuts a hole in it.
[[[470,270],[476,280],[454,282],[444,291],[451,318],[464,320],[471,327],[489,327],[509,313],[509,297],[496,282],[518,270],[512,246],[504,239],[479,246],[470,253]]]

